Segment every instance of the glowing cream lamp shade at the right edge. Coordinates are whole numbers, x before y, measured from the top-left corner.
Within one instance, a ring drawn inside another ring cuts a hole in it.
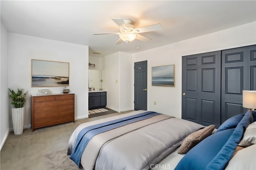
[[[256,109],[256,91],[243,90],[243,107]]]

